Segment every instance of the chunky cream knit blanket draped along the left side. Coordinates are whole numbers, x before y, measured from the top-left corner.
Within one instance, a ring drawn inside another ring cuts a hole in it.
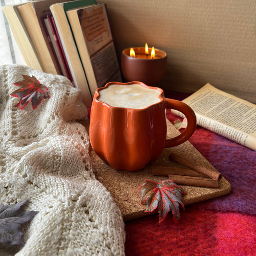
[[[20,110],[10,96],[22,74],[49,89],[35,110],[31,102]],[[0,66],[0,205],[28,198],[24,210],[39,212],[23,226],[24,247],[0,244],[1,256],[124,255],[122,215],[93,174],[78,97],[63,76]]]

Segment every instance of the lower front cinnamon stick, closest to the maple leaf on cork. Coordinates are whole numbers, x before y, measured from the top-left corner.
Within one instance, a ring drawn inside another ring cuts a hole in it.
[[[210,178],[203,177],[190,177],[182,175],[169,174],[169,179],[173,180],[174,183],[180,185],[191,185],[191,186],[201,186],[201,187],[212,187],[218,188],[219,182]]]

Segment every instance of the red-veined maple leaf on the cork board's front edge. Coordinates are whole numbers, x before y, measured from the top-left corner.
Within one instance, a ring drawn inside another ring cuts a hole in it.
[[[163,180],[160,183],[145,180],[138,189],[141,191],[141,204],[146,204],[145,212],[152,212],[158,207],[159,223],[163,221],[171,210],[174,222],[180,219],[180,206],[184,210],[183,189],[172,180]]]

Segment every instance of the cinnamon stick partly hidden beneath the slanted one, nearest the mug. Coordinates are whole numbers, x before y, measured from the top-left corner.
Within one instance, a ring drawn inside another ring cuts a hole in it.
[[[169,174],[175,174],[191,177],[208,177],[207,175],[195,170],[164,166],[152,166],[152,174],[156,176],[168,176]]]

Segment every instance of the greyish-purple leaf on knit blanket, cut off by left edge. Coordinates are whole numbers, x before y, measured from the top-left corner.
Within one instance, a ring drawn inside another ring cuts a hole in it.
[[[21,207],[27,200],[16,205],[0,205],[0,243],[24,245],[21,224],[31,220],[37,211],[24,212]]]

